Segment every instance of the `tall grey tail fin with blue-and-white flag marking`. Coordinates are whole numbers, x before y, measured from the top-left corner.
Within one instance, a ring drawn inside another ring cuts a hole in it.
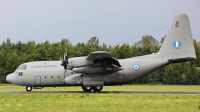
[[[187,14],[176,15],[158,53],[177,62],[196,58]]]

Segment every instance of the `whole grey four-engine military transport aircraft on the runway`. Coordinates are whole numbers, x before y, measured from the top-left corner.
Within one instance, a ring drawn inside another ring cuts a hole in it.
[[[33,87],[81,86],[83,91],[100,92],[103,86],[122,85],[170,63],[196,59],[187,14],[177,14],[157,53],[116,60],[109,52],[96,51],[85,57],[63,61],[35,61],[21,64],[7,75],[7,82]]]

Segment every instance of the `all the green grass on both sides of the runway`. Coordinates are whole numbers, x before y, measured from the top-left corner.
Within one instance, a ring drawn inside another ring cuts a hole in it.
[[[1,86],[0,91],[25,91]],[[82,91],[80,87],[44,88],[39,91]],[[103,91],[200,91],[200,86],[125,85]],[[33,90],[33,91],[38,91]],[[200,95],[184,94],[0,94],[0,112],[199,112]]]

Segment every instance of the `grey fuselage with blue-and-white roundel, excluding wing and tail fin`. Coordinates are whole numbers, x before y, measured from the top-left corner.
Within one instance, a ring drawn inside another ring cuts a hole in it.
[[[155,58],[157,54],[119,60],[121,70],[107,73],[76,73],[64,69],[61,61],[28,62],[26,70],[17,69],[16,85],[33,87],[56,86],[95,86],[95,85],[122,85],[149,74],[170,62],[167,59]],[[73,60],[73,58],[71,58]],[[134,65],[137,67],[134,68]],[[21,66],[21,65],[20,65]],[[23,75],[19,75],[22,72]],[[65,78],[67,78],[65,80]]]

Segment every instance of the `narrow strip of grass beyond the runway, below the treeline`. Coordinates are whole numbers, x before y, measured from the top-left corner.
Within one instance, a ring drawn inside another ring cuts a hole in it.
[[[25,91],[25,87],[15,85],[1,85],[0,91]],[[82,91],[81,87],[45,87],[33,91]],[[103,91],[200,91],[199,85],[123,85],[104,86]]]

